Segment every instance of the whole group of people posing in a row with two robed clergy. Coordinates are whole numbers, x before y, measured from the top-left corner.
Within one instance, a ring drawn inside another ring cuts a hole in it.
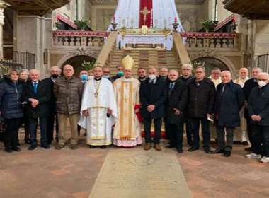
[[[253,68],[248,79],[248,69],[241,68],[239,78],[233,81],[230,71],[214,68],[206,78],[205,67],[193,69],[191,64],[183,64],[181,76],[174,69],[149,67],[138,68],[136,79],[132,77],[134,65],[127,55],[115,76],[110,76],[109,67],[97,65],[93,76],[83,70],[80,78],[74,76],[69,64],[62,71],[52,66],[51,76],[44,80],[40,80],[37,69],[29,74],[27,70],[11,69],[0,84],[1,116],[6,120],[5,151],[21,151],[18,129],[22,124],[28,149],[35,149],[38,123],[42,148],[50,148],[55,126],[56,149],[64,148],[69,118],[71,149],[78,148],[81,127],[86,130],[90,148],[137,146],[142,144],[144,128],[144,150],[153,146],[161,151],[164,123],[169,140],[166,148],[176,148],[178,153],[183,152],[185,129],[190,152],[200,148],[200,134],[205,153],[222,153],[225,157],[231,156],[233,144],[248,145],[249,139],[246,158],[269,163],[267,73]],[[214,150],[210,148],[212,139],[217,141]]]

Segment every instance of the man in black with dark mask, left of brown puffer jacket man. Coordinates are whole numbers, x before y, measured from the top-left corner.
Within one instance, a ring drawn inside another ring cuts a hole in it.
[[[48,90],[50,90],[51,98],[47,103],[47,107],[49,110],[49,114],[47,115],[47,144],[51,144],[53,140],[53,132],[56,124],[56,138],[58,138],[58,122],[57,122],[57,113],[56,113],[56,98],[53,93],[53,85],[56,79],[61,74],[61,69],[57,66],[52,66],[50,68],[51,76],[49,78],[45,78],[43,81],[46,84]]]

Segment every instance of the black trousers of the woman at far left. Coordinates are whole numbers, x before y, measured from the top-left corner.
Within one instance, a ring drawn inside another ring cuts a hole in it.
[[[4,133],[4,145],[6,148],[16,148],[18,146],[18,129],[21,118],[6,119],[6,132]]]

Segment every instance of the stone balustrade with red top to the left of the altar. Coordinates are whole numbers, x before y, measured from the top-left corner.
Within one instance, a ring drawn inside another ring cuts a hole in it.
[[[109,32],[57,30],[53,31],[54,46],[88,46],[103,47]]]

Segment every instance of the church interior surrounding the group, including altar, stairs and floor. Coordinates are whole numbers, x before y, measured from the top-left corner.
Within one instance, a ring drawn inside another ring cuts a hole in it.
[[[66,64],[77,77],[96,65],[115,75],[127,55],[135,78],[138,68],[189,63],[205,66],[206,76],[216,67],[233,78],[242,67],[268,72],[269,1],[0,0],[0,76],[17,68],[47,78]],[[2,152],[0,142],[0,197],[269,197],[268,165],[246,160],[243,145],[230,158],[185,152],[185,138],[180,154],[89,149],[82,133],[76,151],[28,151],[23,136],[20,129],[19,153]]]

